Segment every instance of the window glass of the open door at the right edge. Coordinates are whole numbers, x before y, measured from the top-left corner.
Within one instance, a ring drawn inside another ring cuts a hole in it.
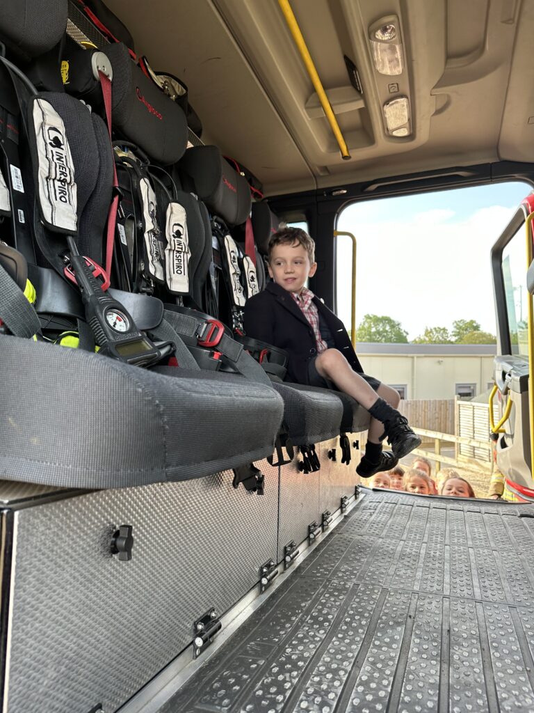
[[[528,356],[528,290],[526,286],[525,226],[521,225],[503,250],[503,282],[512,354]]]

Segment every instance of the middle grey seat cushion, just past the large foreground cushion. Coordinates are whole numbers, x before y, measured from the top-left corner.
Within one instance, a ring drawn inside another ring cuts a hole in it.
[[[284,422],[295,446],[328,441],[339,435],[343,407],[340,399],[327,389],[293,389],[289,384],[273,382],[273,389],[283,398]]]

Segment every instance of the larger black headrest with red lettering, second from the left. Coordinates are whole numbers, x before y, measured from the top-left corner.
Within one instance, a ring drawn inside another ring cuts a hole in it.
[[[125,138],[164,165],[176,163],[187,146],[182,108],[132,61],[122,43],[105,48],[112,70],[112,124]]]

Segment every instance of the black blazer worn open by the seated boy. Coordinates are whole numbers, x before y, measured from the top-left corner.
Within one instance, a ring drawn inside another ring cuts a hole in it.
[[[313,302],[332,332],[336,349],[345,355],[352,369],[362,373],[362,365],[341,320],[318,297],[313,297]],[[317,354],[317,340],[308,319],[286,289],[276,282],[268,282],[263,292],[247,300],[245,332],[248,337],[285,349],[289,357],[286,379],[308,384],[308,363]]]

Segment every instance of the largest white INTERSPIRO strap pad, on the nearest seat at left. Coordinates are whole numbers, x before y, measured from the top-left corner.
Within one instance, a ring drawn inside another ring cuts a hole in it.
[[[38,156],[38,198],[43,220],[76,232],[77,186],[73,157],[61,116],[43,99],[33,102],[33,127]]]

